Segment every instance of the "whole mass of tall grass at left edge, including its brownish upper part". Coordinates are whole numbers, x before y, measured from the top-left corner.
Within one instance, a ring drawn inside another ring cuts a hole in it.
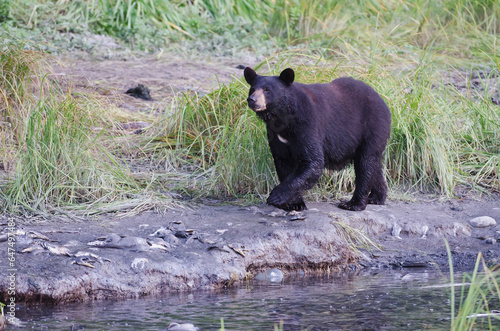
[[[98,134],[106,126],[102,106],[48,83],[43,59],[22,45],[5,45],[0,56],[0,133],[9,138],[0,157],[12,164],[3,167],[9,178],[0,183],[0,210],[50,211],[130,194],[137,186],[126,166],[99,148],[105,145]]]

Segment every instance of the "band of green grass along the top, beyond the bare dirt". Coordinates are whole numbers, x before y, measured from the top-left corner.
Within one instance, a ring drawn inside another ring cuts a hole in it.
[[[93,32],[134,49],[230,56],[270,54],[289,45],[377,47],[384,38],[395,56],[408,46],[434,44],[441,54],[483,60],[498,58],[500,29],[494,0],[14,0],[0,9],[2,16],[6,31],[51,52],[59,52],[58,45],[92,52],[82,36]]]

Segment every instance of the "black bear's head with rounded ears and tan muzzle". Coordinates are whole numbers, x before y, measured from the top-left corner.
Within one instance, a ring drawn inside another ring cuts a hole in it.
[[[278,110],[277,107],[283,104],[284,98],[287,97],[287,88],[292,85],[295,78],[295,73],[290,68],[283,70],[279,76],[259,76],[255,70],[246,67],[244,75],[250,84],[248,107],[260,116],[263,116],[264,114],[260,113],[266,110]]]

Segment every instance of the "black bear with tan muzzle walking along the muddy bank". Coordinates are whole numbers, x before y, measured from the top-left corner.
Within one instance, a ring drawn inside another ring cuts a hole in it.
[[[305,190],[323,168],[354,163],[355,190],[339,207],[364,210],[383,205],[387,183],[382,158],[391,130],[391,112],[380,95],[350,77],[328,84],[294,83],[288,68],[279,76],[260,76],[245,68],[248,106],[266,123],[269,147],[280,184],[267,203],[284,210],[307,209]]]

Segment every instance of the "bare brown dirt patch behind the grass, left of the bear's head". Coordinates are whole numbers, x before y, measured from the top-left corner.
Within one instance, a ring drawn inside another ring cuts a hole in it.
[[[173,95],[203,95],[234,77],[241,78],[243,70],[238,66],[253,64],[227,58],[196,61],[164,54],[107,61],[65,58],[54,68],[58,79],[76,90],[100,94],[124,111],[154,113],[155,108],[168,104]],[[125,94],[139,84],[150,90],[153,100]]]

